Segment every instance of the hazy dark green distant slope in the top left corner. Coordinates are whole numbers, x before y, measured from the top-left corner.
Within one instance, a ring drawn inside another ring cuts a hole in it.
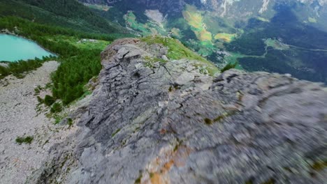
[[[1,0],[0,15],[14,15],[42,24],[92,33],[128,33],[122,26],[103,19],[74,0]]]

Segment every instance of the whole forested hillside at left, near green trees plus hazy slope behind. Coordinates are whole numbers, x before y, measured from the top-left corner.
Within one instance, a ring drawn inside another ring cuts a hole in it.
[[[58,55],[61,62],[52,76],[52,93],[64,104],[80,98],[84,85],[101,70],[100,53],[112,40],[131,37],[129,31],[94,13],[75,0],[2,0],[0,30],[35,40]],[[82,43],[82,39],[94,43]],[[0,77],[34,70],[49,58],[10,63],[0,67]]]

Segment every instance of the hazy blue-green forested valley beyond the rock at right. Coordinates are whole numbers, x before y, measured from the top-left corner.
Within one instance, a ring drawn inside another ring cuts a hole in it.
[[[299,22],[289,6],[275,9],[277,14],[270,22],[249,20],[245,33],[226,48],[247,55],[238,59],[245,70],[290,73],[327,83],[327,33]],[[266,38],[277,38],[289,49],[268,47]]]

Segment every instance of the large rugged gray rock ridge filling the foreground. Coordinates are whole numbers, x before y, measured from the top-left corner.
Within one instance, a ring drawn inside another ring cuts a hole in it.
[[[160,48],[159,48],[160,50]],[[31,183],[324,183],[327,92],[287,75],[182,59],[146,65],[135,39],[102,53],[80,131]]]

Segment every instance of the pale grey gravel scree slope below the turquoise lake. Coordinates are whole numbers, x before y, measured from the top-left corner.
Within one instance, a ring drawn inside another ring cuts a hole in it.
[[[65,139],[68,129],[54,125],[38,111],[34,95],[37,86],[50,82],[50,74],[57,69],[56,61],[49,61],[23,79],[13,76],[0,82],[0,183],[25,183],[48,155],[50,147]],[[47,91],[41,91],[43,98]],[[31,144],[17,144],[17,137],[33,136]]]

